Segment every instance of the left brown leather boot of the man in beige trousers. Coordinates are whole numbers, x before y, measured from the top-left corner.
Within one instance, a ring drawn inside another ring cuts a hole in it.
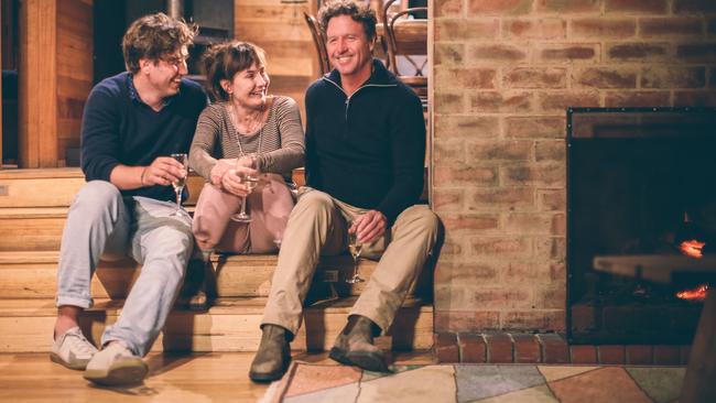
[[[291,362],[290,333],[281,326],[263,325],[259,351],[253,357],[249,378],[254,382],[281,379]]]

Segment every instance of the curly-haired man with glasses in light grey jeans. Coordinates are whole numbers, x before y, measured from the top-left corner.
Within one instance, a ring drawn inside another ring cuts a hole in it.
[[[171,185],[184,170],[170,155],[188,151],[206,106],[200,86],[183,78],[195,32],[163,13],[134,21],[122,40],[127,72],[95,86],[85,105],[87,184],[63,233],[50,357],[99,384],[144,379],[141,357],[164,326],[192,254],[188,214],[171,216]],[[100,257],[126,255],[142,264],[141,274],[98,351],[80,331],[79,314],[93,305],[90,281]]]

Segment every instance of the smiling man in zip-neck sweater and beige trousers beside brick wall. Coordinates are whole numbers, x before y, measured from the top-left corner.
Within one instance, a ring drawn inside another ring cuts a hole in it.
[[[416,204],[425,157],[422,106],[372,58],[375,13],[339,0],[324,6],[319,20],[334,70],[306,92],[307,186],[284,233],[249,372],[254,381],[285,372],[318,258],[345,252],[348,233],[362,243],[362,257],[379,263],[330,358],[386,371],[373,337],[390,327],[437,236],[437,218]]]

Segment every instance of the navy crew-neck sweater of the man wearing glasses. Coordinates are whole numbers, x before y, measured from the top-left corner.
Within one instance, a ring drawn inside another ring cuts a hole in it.
[[[104,79],[89,94],[82,123],[86,181],[107,181],[119,165],[149,165],[158,156],[188,153],[196,120],[206,106],[202,87],[182,79],[180,92],[154,111],[138,96],[128,73]],[[171,186],[122,190],[124,196],[173,200]]]

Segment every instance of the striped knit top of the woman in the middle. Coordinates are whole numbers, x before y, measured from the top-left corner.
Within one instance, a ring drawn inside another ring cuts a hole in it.
[[[217,160],[237,159],[239,150],[259,153],[261,172],[278,173],[286,178],[291,178],[292,170],[303,166],[304,134],[296,101],[272,97],[265,123],[253,133],[236,130],[228,106],[228,102],[211,104],[199,116],[189,150],[189,166],[196,173],[208,181]]]

